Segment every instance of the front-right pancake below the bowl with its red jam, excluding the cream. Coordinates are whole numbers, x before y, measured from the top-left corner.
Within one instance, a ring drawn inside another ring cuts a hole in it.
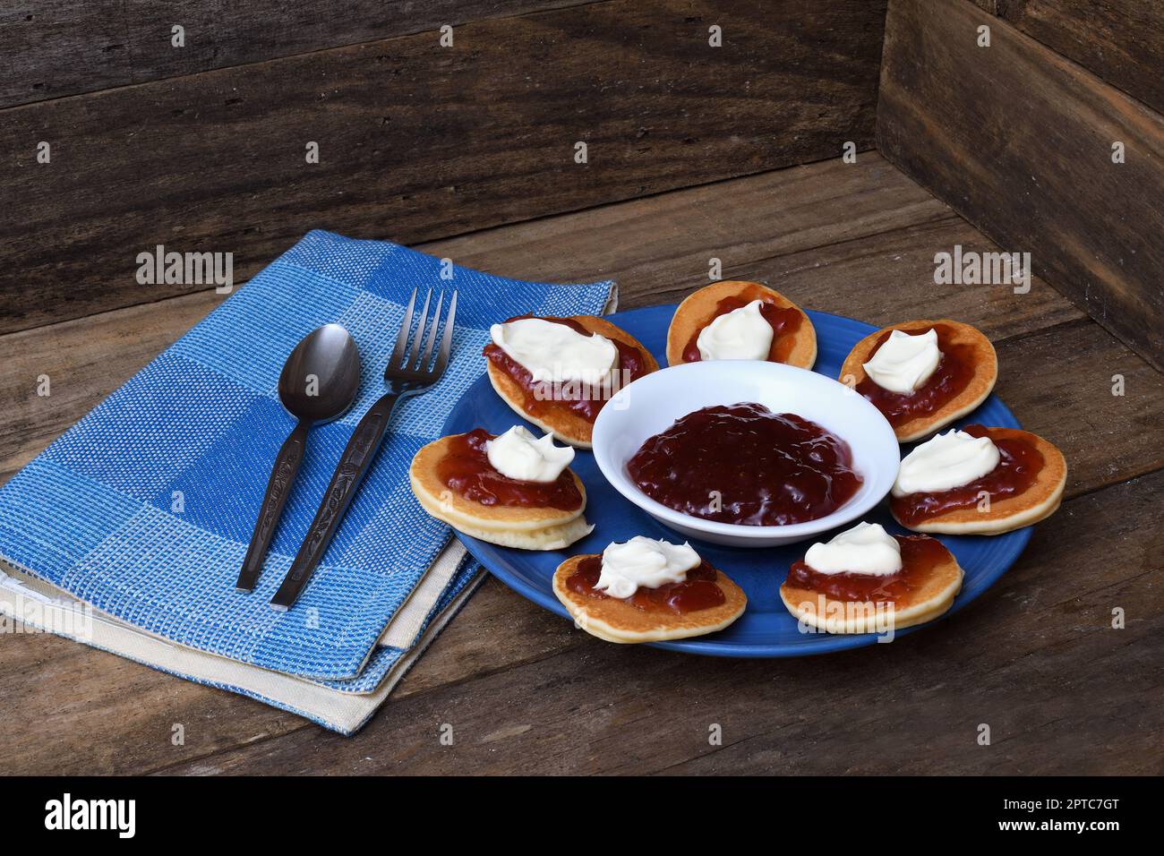
[[[888,536],[868,524],[850,532],[861,526],[897,543],[900,570],[886,575],[825,574],[808,564],[810,552],[805,560],[793,563],[780,586],[780,599],[797,621],[830,634],[885,634],[932,621],[950,609],[964,574],[942,542],[924,535]]]

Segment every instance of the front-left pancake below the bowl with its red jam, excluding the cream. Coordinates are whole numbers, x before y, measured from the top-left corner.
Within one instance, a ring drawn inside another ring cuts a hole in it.
[[[666,642],[723,630],[743,615],[747,606],[744,590],[698,557],[695,567],[672,578],[679,581],[632,587],[633,593],[625,597],[596,588],[608,551],[650,540],[612,544],[603,554],[574,556],[558,566],[554,594],[577,627],[606,642]],[[688,545],[682,549],[690,550]]]

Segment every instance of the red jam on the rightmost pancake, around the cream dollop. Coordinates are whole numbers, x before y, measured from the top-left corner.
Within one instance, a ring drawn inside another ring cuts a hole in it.
[[[936,494],[907,494],[889,497],[894,516],[907,526],[960,508],[974,508],[979,494],[991,495],[991,502],[1017,496],[1038,479],[1043,469],[1043,453],[1024,437],[1007,436],[1006,429],[967,425],[961,429],[971,437],[989,437],[999,447],[999,465],[981,479],[974,479],[952,490]]]

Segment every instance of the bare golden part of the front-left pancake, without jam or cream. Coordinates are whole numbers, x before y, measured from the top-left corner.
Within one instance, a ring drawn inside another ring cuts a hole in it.
[[[572,556],[558,566],[554,572],[554,594],[582,630],[606,642],[666,642],[714,634],[736,621],[747,606],[744,589],[718,570],[716,585],[724,593],[724,602],[684,614],[644,611],[617,597],[590,597],[572,592],[566,581],[579,564],[589,558],[592,557]]]

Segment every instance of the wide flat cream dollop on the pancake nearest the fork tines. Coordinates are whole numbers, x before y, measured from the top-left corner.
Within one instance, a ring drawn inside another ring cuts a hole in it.
[[[618,359],[618,348],[606,337],[583,335],[542,318],[495,324],[489,335],[535,382],[598,384]]]

